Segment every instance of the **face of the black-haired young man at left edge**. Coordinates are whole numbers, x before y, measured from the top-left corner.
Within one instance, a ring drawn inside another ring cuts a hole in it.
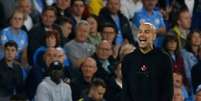
[[[7,61],[13,61],[16,57],[16,52],[17,52],[16,48],[8,46],[8,47],[5,47],[4,50],[5,50],[5,59]]]

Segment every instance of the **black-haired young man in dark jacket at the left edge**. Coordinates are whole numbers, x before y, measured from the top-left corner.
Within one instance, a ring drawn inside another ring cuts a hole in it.
[[[8,41],[4,45],[4,58],[0,61],[0,100],[9,101],[13,95],[23,94],[22,68],[15,61],[17,43]]]

